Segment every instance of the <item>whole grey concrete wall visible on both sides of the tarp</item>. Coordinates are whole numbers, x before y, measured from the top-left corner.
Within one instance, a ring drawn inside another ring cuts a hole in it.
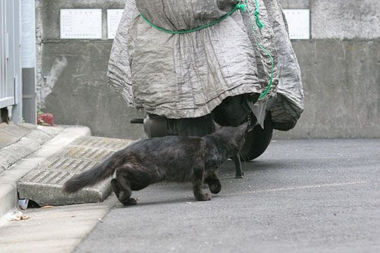
[[[58,124],[84,124],[99,136],[141,138],[127,108],[106,86],[106,9],[124,1],[37,0],[37,76],[40,103]],[[293,41],[303,72],[305,112],[295,129],[275,138],[380,137],[380,1],[281,0],[310,8],[311,37]],[[59,39],[61,8],[102,8],[103,38]]]

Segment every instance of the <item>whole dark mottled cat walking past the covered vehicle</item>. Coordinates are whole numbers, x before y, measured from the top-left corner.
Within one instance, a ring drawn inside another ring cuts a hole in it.
[[[217,168],[243,147],[248,124],[222,126],[203,137],[165,136],[138,141],[110,156],[103,163],[72,176],[63,190],[75,193],[85,186],[113,176],[111,185],[123,205],[136,205],[132,190],[141,190],[159,181],[193,181],[196,200],[211,200],[202,192],[203,181],[211,193],[219,193]]]

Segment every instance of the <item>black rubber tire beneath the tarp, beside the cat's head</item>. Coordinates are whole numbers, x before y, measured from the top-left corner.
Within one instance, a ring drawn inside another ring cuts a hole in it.
[[[268,115],[264,122],[264,129],[258,125],[247,133],[246,143],[244,143],[240,154],[242,161],[254,160],[265,152],[272,140],[273,129],[270,124],[270,115]]]

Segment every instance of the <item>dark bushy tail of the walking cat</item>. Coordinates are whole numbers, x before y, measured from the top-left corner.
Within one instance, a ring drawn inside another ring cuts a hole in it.
[[[63,185],[63,191],[66,193],[75,193],[86,186],[94,186],[94,184],[112,176],[115,169],[122,162],[121,150],[114,153],[101,164],[98,164],[91,169],[72,176],[71,179]]]

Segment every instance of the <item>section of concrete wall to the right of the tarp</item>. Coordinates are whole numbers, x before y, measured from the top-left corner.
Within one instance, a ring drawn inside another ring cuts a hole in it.
[[[293,41],[305,112],[275,138],[380,137],[380,1],[282,0],[310,8],[311,38]]]

